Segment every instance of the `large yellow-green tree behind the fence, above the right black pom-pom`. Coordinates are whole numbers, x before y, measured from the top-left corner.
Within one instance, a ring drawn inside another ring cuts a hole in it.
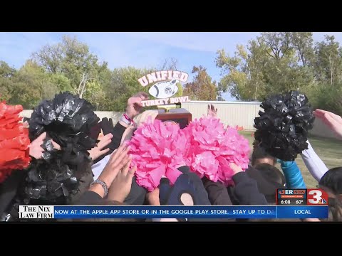
[[[229,91],[237,100],[264,100],[273,93],[312,87],[311,68],[299,63],[299,58],[309,63],[310,42],[309,34],[261,33],[247,48],[237,46],[234,57],[218,50],[216,64],[224,75],[219,91]]]

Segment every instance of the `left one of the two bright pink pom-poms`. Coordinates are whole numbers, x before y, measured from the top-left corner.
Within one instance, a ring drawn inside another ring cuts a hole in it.
[[[135,172],[137,183],[148,191],[157,188],[163,176],[175,183],[182,174],[176,166],[184,162],[186,143],[179,125],[155,119],[138,127],[128,143],[132,164],[138,167]]]

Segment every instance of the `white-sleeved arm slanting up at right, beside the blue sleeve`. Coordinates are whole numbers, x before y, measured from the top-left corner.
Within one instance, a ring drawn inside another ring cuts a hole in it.
[[[303,159],[310,174],[319,182],[323,175],[328,171],[328,167],[326,167],[323,161],[316,154],[310,142],[307,141],[306,143],[308,144],[308,149],[305,149],[301,153],[301,158]]]

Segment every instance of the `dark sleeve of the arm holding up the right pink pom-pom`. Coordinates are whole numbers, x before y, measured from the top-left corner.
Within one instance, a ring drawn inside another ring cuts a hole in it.
[[[242,206],[264,206],[267,205],[264,194],[259,192],[257,181],[244,172],[239,172],[233,177],[235,183],[234,196],[239,200]]]

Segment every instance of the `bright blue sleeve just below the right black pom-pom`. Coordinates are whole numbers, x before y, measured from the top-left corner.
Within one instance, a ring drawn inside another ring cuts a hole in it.
[[[280,166],[285,176],[286,188],[306,188],[296,161],[280,161]]]

